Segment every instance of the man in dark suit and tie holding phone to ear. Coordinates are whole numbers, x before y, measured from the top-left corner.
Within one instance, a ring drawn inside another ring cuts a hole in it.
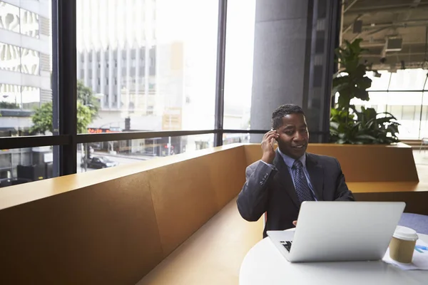
[[[308,142],[302,108],[281,105],[272,113],[272,130],[261,144],[262,159],[247,167],[247,181],[237,200],[241,216],[250,222],[266,212],[263,237],[267,230],[293,227],[303,201],[354,200],[339,162],[307,153]]]

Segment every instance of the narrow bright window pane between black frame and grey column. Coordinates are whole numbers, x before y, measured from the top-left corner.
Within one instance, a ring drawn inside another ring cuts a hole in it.
[[[255,0],[228,1],[223,128],[250,128]]]

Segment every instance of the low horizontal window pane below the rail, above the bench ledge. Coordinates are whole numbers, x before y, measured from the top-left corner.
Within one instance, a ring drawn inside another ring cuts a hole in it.
[[[214,135],[207,134],[80,144],[77,150],[77,172],[203,150],[213,147],[213,142]]]

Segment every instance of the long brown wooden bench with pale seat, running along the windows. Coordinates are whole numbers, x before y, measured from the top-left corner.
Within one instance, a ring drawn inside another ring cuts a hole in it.
[[[428,214],[411,149],[397,148],[398,157],[390,147],[310,152],[337,157],[357,199],[404,200],[407,212]],[[367,165],[362,153],[383,159]],[[260,156],[258,144],[226,145],[5,187],[0,284],[237,284],[263,221],[245,222],[235,197]]]

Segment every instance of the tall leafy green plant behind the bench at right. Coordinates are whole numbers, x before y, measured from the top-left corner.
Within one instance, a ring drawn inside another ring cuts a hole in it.
[[[372,86],[372,80],[366,72],[371,71],[371,66],[361,63],[361,54],[367,51],[361,48],[361,41],[345,41],[344,48],[335,49],[340,71],[333,76],[332,95],[339,93],[339,98],[331,110],[330,141],[357,145],[399,142],[399,123],[392,114],[364,107],[359,111],[350,103],[352,98],[370,100],[367,88]]]

